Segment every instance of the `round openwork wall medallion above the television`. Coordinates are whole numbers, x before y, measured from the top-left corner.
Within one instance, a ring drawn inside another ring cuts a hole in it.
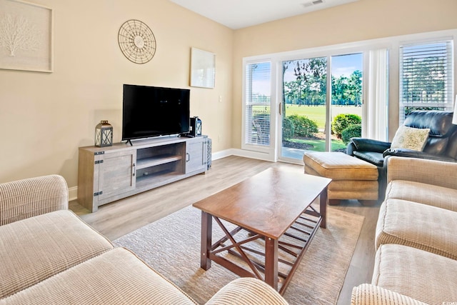
[[[149,26],[131,19],[122,24],[118,35],[119,47],[129,61],[146,64],[156,54],[156,37]]]

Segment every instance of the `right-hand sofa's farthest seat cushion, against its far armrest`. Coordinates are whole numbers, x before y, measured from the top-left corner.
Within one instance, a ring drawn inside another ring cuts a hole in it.
[[[457,189],[414,181],[394,180],[386,189],[386,199],[403,199],[457,211]]]

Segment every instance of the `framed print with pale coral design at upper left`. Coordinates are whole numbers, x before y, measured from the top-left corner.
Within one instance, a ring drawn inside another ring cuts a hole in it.
[[[0,69],[52,72],[52,9],[0,0]]]

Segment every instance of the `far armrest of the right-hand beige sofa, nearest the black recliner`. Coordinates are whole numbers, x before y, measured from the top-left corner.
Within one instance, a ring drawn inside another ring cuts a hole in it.
[[[387,158],[387,182],[393,180],[457,189],[457,163],[390,156]]]

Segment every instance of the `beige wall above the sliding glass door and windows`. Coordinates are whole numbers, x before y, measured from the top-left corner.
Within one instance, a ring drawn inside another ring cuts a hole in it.
[[[241,148],[243,57],[403,34],[456,29],[456,12],[456,0],[360,0],[235,31],[233,147]],[[391,105],[391,108],[394,109],[395,106]],[[395,124],[396,122],[393,123]]]

